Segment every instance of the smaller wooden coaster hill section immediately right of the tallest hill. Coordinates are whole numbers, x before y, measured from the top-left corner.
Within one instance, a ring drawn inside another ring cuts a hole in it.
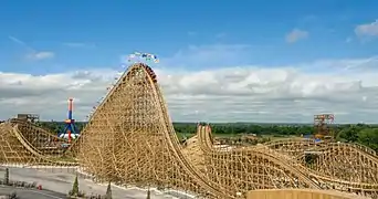
[[[216,148],[209,126],[199,126],[198,134],[208,178],[232,192],[244,196],[253,189],[319,188],[291,161],[269,148]]]

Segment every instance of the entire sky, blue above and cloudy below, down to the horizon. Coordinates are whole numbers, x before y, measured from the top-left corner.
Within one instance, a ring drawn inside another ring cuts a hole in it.
[[[176,122],[378,123],[378,1],[21,1],[0,7],[0,119],[82,121],[134,51]]]

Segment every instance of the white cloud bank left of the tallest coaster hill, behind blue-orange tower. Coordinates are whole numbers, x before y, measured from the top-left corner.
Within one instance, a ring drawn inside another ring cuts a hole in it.
[[[75,97],[74,114],[82,119],[104,96],[115,74],[112,70],[48,75],[0,72],[0,117],[39,113],[45,119],[63,119],[66,116],[66,100]]]

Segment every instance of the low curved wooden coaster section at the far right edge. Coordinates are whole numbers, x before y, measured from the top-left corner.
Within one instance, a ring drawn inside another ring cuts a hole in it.
[[[314,139],[282,139],[265,146],[291,157],[322,189],[377,197],[378,156],[368,147]]]

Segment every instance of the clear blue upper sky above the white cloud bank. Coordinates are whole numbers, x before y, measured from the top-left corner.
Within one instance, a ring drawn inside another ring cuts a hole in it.
[[[378,52],[378,41],[361,41],[355,28],[378,19],[377,8],[376,0],[8,0],[0,7],[0,71],[117,67],[119,57],[135,50],[156,53],[169,66],[182,62],[193,70],[232,62],[270,66],[369,57]],[[285,35],[293,29],[307,36],[287,43]],[[186,56],[195,51],[190,46],[227,46],[224,54],[237,55],[224,60],[210,53],[196,61]],[[25,59],[33,51],[54,57]],[[179,59],[168,62],[172,57]]]

